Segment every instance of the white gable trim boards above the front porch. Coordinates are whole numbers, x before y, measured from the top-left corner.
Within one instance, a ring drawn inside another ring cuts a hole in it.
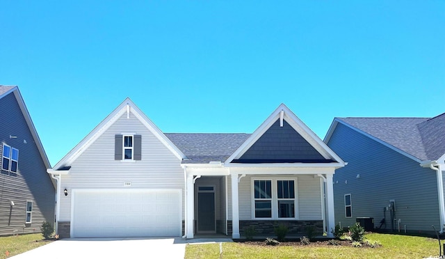
[[[257,140],[266,132],[275,121],[280,118],[280,112],[284,111],[284,120],[293,127],[309,144],[311,144],[325,159],[334,159],[344,166],[343,160],[335,154],[312,130],[300,120],[286,105],[280,106],[262,123],[257,130],[241,145],[226,161],[231,163],[234,159],[239,159]]]

